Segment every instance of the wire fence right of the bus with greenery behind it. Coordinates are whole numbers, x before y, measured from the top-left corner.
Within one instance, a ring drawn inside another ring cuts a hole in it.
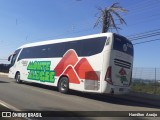
[[[133,68],[131,90],[160,95],[160,68]]]

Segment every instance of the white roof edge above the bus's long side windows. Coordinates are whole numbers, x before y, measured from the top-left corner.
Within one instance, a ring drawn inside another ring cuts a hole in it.
[[[67,41],[76,41],[76,40],[82,40],[82,39],[89,39],[89,38],[95,38],[95,37],[104,37],[107,35],[112,35],[113,33],[99,33],[99,34],[93,34],[93,35],[87,35],[87,36],[80,36],[80,37],[74,37],[74,38],[62,38],[62,39],[53,39],[53,40],[45,40],[40,42],[34,42],[29,44],[24,44],[20,48],[26,48],[26,47],[33,47],[33,46],[39,46],[39,45],[46,45],[46,44],[54,44],[54,43],[60,43],[60,42],[67,42]]]

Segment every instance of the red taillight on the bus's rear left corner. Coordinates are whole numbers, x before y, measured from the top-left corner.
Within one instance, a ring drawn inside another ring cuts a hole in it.
[[[105,75],[105,81],[107,81],[109,84],[113,84],[113,82],[112,82],[112,67],[111,66],[109,66],[107,68],[107,72]]]

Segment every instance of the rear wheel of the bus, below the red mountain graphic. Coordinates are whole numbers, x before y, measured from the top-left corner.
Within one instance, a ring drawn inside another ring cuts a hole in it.
[[[67,77],[62,77],[58,83],[58,91],[67,94],[69,92],[69,80]]]

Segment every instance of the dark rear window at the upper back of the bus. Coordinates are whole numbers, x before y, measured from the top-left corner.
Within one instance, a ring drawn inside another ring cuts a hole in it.
[[[114,34],[113,49],[133,56],[133,44],[123,36]]]

